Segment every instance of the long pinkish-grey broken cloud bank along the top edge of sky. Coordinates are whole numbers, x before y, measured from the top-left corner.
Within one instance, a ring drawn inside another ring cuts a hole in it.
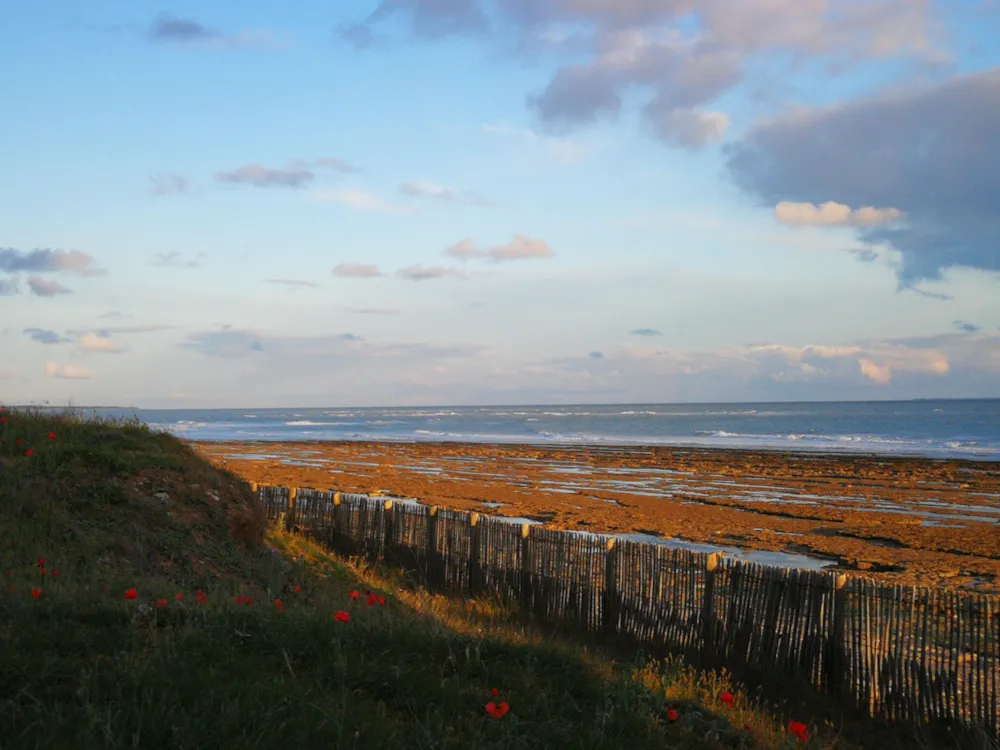
[[[638,90],[645,129],[689,150],[723,137],[729,118],[712,107],[744,82],[771,89],[776,71],[816,60],[836,73],[944,60],[941,24],[922,0],[382,0],[342,35],[366,46],[371,27],[396,15],[417,37],[496,29],[521,53],[566,52],[573,63],[527,97],[549,131],[614,119]]]

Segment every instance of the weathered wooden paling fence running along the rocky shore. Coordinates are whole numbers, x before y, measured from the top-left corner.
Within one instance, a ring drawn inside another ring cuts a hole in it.
[[[326,547],[495,592],[550,619],[737,675],[780,676],[870,716],[1000,740],[1000,601],[533,528],[340,492],[257,487],[272,520]]]

